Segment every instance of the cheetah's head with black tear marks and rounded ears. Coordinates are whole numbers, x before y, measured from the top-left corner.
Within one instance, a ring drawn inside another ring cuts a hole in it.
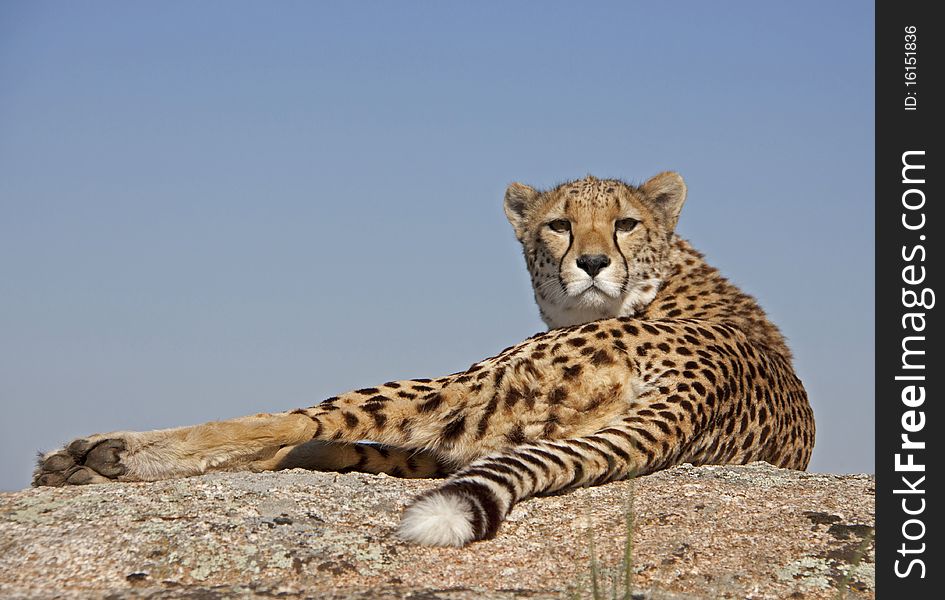
[[[548,327],[629,316],[670,273],[686,184],[661,173],[640,187],[586,177],[538,191],[513,183],[505,214],[522,243]]]

